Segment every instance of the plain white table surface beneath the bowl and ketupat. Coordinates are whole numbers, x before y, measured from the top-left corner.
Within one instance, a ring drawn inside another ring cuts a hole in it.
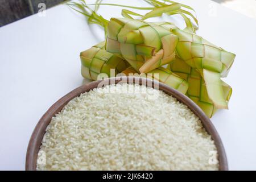
[[[183,2],[197,12],[197,34],[237,55],[225,78],[233,87],[229,110],[218,111],[212,122],[229,168],[256,169],[256,21],[209,0]],[[100,13],[117,17],[120,8],[102,6]],[[48,9],[45,17],[36,14],[0,28],[1,170],[24,169],[36,123],[54,102],[82,84],[79,53],[103,39],[100,28],[89,27],[64,5]]]

